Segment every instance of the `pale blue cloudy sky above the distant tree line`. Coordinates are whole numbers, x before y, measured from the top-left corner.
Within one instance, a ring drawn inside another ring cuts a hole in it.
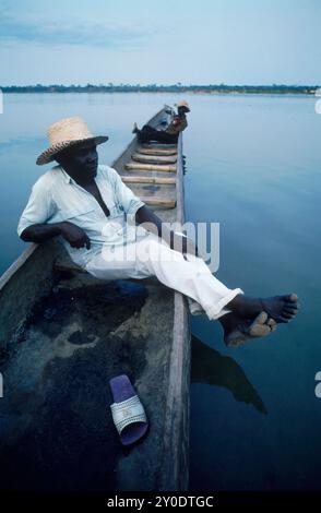
[[[0,85],[321,84],[321,0],[0,0]]]

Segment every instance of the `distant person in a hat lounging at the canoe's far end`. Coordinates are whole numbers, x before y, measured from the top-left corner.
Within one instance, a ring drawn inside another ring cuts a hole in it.
[[[150,141],[157,141],[163,144],[176,144],[178,135],[182,132],[187,126],[187,112],[190,112],[189,104],[182,99],[177,104],[177,116],[174,116],[170,123],[165,130],[156,130],[150,124],[144,124],[140,130],[134,123],[132,133],[138,135],[140,143],[148,143]]]

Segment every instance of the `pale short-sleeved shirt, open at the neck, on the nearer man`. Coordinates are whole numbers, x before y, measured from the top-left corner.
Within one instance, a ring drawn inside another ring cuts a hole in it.
[[[136,211],[145,203],[111,167],[98,165],[95,181],[110,212],[108,217],[93,194],[79,186],[61,166],[55,166],[34,184],[19,222],[17,235],[35,224],[73,223],[91,239],[90,250],[72,248],[62,239],[72,260],[81,266],[102,251],[103,246],[115,247],[135,240],[134,224],[130,227],[128,222],[133,222]]]

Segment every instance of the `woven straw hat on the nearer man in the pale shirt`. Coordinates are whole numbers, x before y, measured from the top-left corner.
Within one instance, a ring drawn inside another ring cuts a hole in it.
[[[55,160],[55,155],[75,144],[88,142],[102,144],[108,141],[107,135],[94,136],[84,120],[79,116],[60,119],[50,124],[47,134],[50,146],[38,156],[36,160],[38,166]]]

